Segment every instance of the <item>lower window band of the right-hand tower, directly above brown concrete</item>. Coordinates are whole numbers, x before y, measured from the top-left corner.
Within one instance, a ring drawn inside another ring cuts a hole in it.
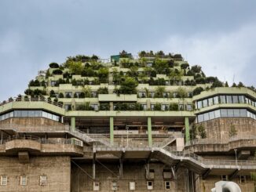
[[[197,122],[209,121],[214,118],[254,118],[256,115],[247,109],[220,109],[197,115]]]

